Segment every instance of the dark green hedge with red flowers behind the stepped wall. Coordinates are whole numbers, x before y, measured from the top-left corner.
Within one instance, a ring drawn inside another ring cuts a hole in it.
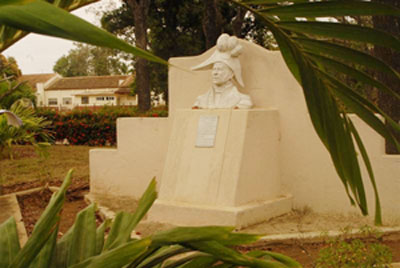
[[[38,109],[39,116],[51,121],[50,130],[56,141],[68,140],[72,145],[112,146],[116,144],[116,121],[119,117],[166,117],[165,107],[139,113],[136,107],[105,106],[101,109],[56,111]]]

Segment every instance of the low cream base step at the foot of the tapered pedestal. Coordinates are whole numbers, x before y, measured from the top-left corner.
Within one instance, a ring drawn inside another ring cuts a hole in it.
[[[202,206],[175,201],[156,200],[149,221],[178,226],[246,226],[286,214],[292,209],[292,195],[239,207]]]

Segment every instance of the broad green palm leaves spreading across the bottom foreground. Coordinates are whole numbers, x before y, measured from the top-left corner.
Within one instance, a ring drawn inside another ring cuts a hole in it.
[[[111,226],[105,221],[96,228],[95,205],[90,205],[78,213],[73,226],[57,241],[59,214],[71,176],[72,171],[53,194],[24,247],[19,245],[13,218],[0,225],[1,267],[301,267],[281,254],[244,255],[235,251],[232,246],[255,242],[258,236],[234,233],[229,227],[179,227],[145,238],[131,238],[157,198],[155,179],[139,200],[135,213],[120,212]],[[105,238],[108,226],[110,231]]]

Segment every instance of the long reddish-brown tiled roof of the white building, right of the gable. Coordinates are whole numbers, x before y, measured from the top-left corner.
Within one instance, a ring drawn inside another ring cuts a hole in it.
[[[129,88],[129,75],[63,77],[45,90]],[[133,80],[132,80],[133,81]]]

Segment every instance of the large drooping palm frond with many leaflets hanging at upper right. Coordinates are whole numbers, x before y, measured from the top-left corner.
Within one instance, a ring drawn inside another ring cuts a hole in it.
[[[313,126],[331,155],[351,203],[357,204],[362,213],[366,215],[368,206],[357,157],[356,147],[358,147],[374,189],[375,223],[381,224],[380,202],[372,167],[361,138],[348,119],[346,109],[355,112],[365,123],[394,143],[397,148],[400,146],[394,134],[400,132],[400,126],[365,97],[330,73],[351,76],[362,83],[389,93],[396,99],[399,99],[398,93],[374,77],[363,73],[354,64],[385,72],[399,82],[400,76],[381,60],[365,52],[336,44],[331,40],[350,40],[389,47],[397,51],[400,51],[400,41],[394,36],[376,29],[344,24],[334,19],[329,22],[315,19],[360,15],[400,16],[400,10],[378,3],[356,0],[322,2],[230,0],[230,2],[251,11],[273,33],[286,64],[303,88]],[[297,21],[296,17],[310,19]],[[341,104],[347,108],[344,109]],[[385,118],[391,128],[387,127],[376,114]]]

